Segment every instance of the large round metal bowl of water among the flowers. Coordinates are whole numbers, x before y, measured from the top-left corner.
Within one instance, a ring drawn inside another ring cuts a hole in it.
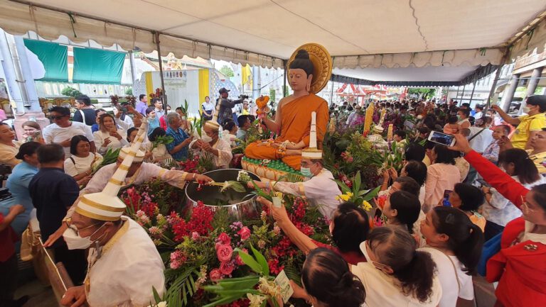
[[[215,182],[225,182],[229,180],[237,180],[237,176],[241,169],[216,169],[211,172],[206,172],[207,175]],[[250,177],[259,181],[256,174],[248,172]],[[230,216],[241,221],[243,217],[257,218],[261,211],[261,205],[255,201],[256,196],[252,195],[252,189],[245,186],[244,193],[227,189],[220,193],[220,186],[201,186],[198,190],[196,182],[190,182],[186,186],[186,202],[188,206],[196,206],[197,201],[203,201],[205,206],[218,208],[228,208]]]

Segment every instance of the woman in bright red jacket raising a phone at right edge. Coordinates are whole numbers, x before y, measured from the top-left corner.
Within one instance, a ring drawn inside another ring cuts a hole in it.
[[[523,213],[506,225],[501,251],[487,262],[486,279],[498,281],[496,307],[546,306],[546,184],[526,189],[473,151],[464,136],[455,138],[450,149],[464,152],[483,179]]]

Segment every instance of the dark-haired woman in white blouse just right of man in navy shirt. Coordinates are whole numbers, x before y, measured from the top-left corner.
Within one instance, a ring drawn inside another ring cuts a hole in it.
[[[65,173],[72,176],[78,185],[85,186],[92,177],[93,165],[102,162],[102,155],[91,152],[91,144],[83,135],[70,140],[70,157],[65,160]]]

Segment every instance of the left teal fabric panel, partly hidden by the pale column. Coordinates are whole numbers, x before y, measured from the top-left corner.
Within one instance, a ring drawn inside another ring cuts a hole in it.
[[[42,40],[24,40],[26,48],[31,50],[42,62],[45,76],[40,81],[68,82],[68,48],[58,43]]]

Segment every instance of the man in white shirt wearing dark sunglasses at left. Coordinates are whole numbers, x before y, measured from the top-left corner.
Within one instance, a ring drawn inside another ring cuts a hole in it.
[[[45,140],[46,144],[60,144],[65,150],[66,157],[70,157],[70,140],[75,135],[85,135],[91,143],[91,151],[97,151],[90,126],[85,125],[85,123],[70,121],[69,108],[63,106],[50,108],[50,119],[53,123],[42,130],[43,140]]]

